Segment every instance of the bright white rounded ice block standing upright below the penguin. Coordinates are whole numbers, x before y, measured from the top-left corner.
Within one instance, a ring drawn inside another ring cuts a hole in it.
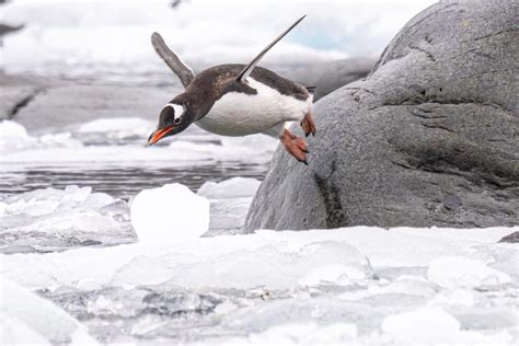
[[[145,189],[131,203],[131,224],[141,242],[196,239],[209,229],[209,201],[182,184]]]

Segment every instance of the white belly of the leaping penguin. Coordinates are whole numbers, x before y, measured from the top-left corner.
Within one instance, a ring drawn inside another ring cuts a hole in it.
[[[262,132],[278,136],[285,122],[300,122],[312,105],[312,96],[304,101],[297,100],[282,95],[252,78],[249,78],[247,82],[257,94],[227,93],[195,124],[207,131],[222,136]]]

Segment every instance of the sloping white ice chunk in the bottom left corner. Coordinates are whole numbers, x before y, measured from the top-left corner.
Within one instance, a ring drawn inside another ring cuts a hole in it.
[[[3,277],[0,297],[2,344],[97,345],[86,328],[60,308]]]

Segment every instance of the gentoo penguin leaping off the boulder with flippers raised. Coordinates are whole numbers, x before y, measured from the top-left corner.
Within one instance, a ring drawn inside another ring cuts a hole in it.
[[[215,66],[197,76],[165,45],[159,34],[153,33],[153,47],[178,76],[185,91],[162,108],[159,126],[148,142],[153,145],[164,137],[182,132],[194,123],[222,136],[266,134],[279,138],[291,155],[308,164],[307,142],[285,128],[285,124],[299,122],[305,136],[315,135],[312,88],[256,66],[304,18],[287,28],[249,65]]]

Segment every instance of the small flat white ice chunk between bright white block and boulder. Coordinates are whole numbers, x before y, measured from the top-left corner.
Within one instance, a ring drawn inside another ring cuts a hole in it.
[[[237,176],[220,183],[206,182],[197,194],[210,199],[253,197],[260,184],[255,178]]]

